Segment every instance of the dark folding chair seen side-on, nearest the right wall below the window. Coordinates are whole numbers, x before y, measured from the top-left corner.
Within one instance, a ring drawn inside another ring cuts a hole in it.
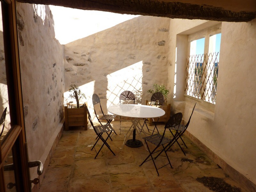
[[[195,109],[195,107],[196,107],[196,103],[195,103],[195,105],[194,105],[194,107],[193,107],[193,110],[192,110],[192,113],[191,113],[191,115],[190,115],[190,117],[189,117],[189,120],[188,120],[188,123],[186,124],[186,125],[180,125],[179,127],[173,127],[171,130],[175,130],[175,134],[173,134],[172,132],[172,136],[175,138],[175,140],[173,141],[173,143],[170,145],[170,147],[172,147],[172,145],[176,142],[178,145],[179,145],[179,147],[180,147],[180,149],[182,150],[182,152],[184,153],[184,155],[186,155],[186,153],[185,153],[185,151],[183,150],[183,148],[180,146],[180,143],[178,142],[178,139],[180,139],[181,141],[182,141],[182,143],[184,144],[184,146],[186,147],[186,148],[188,148],[187,147],[187,145],[185,144],[185,142],[184,142],[184,140],[181,138],[181,136],[184,134],[184,132],[187,130],[187,128],[188,128],[188,125],[189,125],[189,122],[190,122],[190,119],[191,119],[191,117],[192,117],[192,114],[193,114],[193,112],[194,112],[194,109]],[[170,148],[169,147],[169,148]],[[169,148],[167,149],[167,151],[169,150]]]

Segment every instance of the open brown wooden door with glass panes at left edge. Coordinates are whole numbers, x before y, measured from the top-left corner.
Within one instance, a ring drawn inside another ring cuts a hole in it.
[[[25,150],[26,135],[14,0],[1,0],[1,16],[0,104],[3,107],[0,106],[0,113],[2,114],[2,108],[5,107],[8,112],[0,137],[0,191],[31,191],[29,163]],[[0,132],[2,128],[3,124],[0,125]]]

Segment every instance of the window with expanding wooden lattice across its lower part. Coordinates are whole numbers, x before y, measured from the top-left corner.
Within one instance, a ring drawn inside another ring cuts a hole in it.
[[[186,93],[215,104],[221,33],[190,40]]]

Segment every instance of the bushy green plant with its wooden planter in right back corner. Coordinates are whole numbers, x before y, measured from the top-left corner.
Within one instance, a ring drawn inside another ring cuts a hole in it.
[[[166,89],[164,84],[154,84],[153,88],[154,89],[149,89],[147,92],[151,93],[151,94],[153,94],[155,92],[160,92],[164,95],[164,97],[166,97],[166,99],[168,98],[169,89]],[[149,104],[149,102],[148,102],[148,100],[146,100],[146,105],[148,105],[148,104]],[[160,106],[160,108],[161,108],[161,106]],[[166,121],[168,121],[170,114],[171,114],[171,104],[164,103],[162,109],[165,111],[165,114],[163,116],[161,116],[158,121],[166,122]],[[152,125],[152,118],[149,118],[149,125],[150,126]]]

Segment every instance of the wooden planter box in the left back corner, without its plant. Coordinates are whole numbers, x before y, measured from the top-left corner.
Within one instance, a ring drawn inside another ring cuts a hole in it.
[[[70,126],[84,126],[87,130],[88,114],[86,107],[83,108],[68,108],[64,106],[65,112],[65,131],[68,131]]]

